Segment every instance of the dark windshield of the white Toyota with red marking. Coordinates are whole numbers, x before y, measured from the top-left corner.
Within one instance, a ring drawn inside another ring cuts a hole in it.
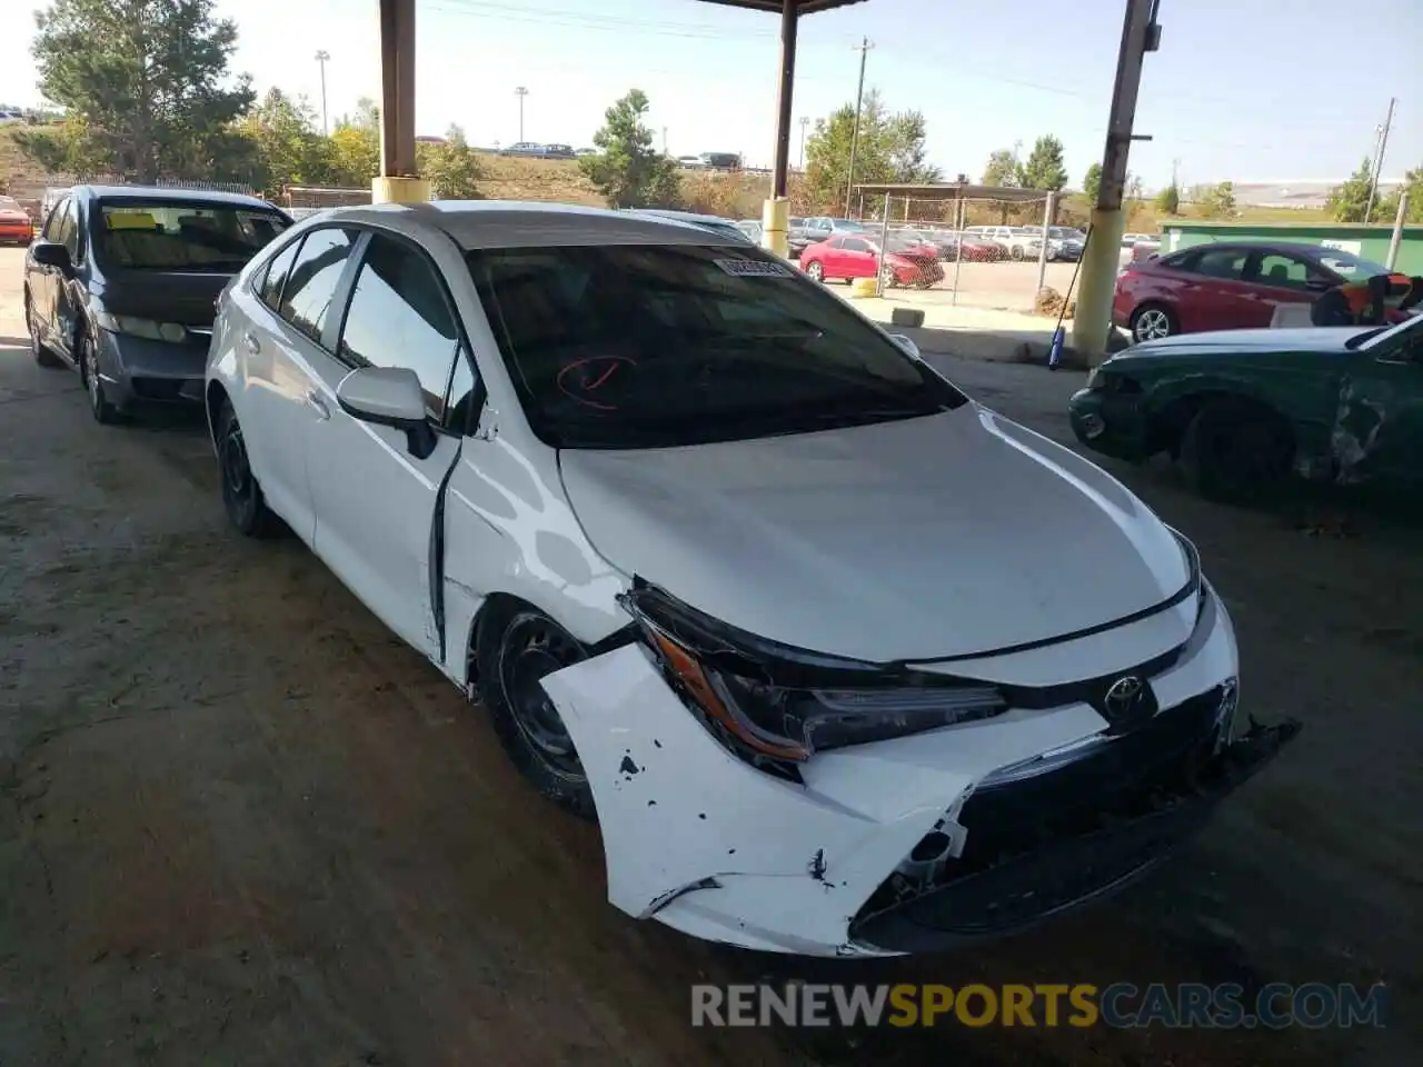
[[[509,377],[558,448],[663,448],[946,411],[963,394],[756,248],[467,256]]]

